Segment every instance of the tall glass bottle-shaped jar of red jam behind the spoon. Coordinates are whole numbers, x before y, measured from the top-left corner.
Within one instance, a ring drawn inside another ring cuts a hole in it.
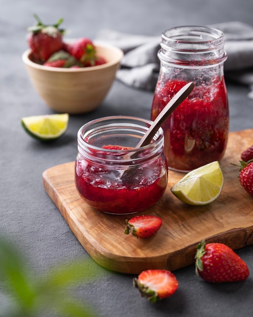
[[[151,120],[180,88],[195,84],[162,126],[164,152],[172,170],[188,172],[224,155],[229,133],[224,44],[224,34],[209,27],[182,26],[162,33]]]

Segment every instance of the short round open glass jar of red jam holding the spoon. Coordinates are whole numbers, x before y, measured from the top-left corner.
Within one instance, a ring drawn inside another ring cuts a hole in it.
[[[109,116],[78,131],[76,188],[95,209],[132,214],[154,205],[167,186],[168,167],[160,128],[149,145],[135,149],[151,121]]]

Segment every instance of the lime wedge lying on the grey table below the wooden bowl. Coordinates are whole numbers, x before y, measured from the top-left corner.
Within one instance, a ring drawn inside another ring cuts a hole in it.
[[[58,139],[67,130],[68,113],[32,115],[21,118],[24,130],[41,141]]]

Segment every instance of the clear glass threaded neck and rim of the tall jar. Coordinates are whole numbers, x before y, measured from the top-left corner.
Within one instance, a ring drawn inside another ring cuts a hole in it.
[[[227,59],[224,33],[209,26],[187,25],[162,33],[158,58],[178,67],[216,67]]]

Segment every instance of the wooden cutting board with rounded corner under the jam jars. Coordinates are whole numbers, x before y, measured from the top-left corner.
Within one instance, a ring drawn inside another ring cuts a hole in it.
[[[89,207],[79,196],[74,180],[74,162],[49,168],[43,173],[45,190],[84,249],[99,265],[124,273],[161,268],[176,270],[194,263],[196,245],[220,242],[232,249],[253,244],[253,197],[238,180],[240,153],[253,144],[253,129],[232,132],[221,167],[224,187],[207,206],[180,202],[170,188],[182,173],[169,171],[168,186],[160,201],[140,214],[160,216],[163,224],[149,239],[126,235],[125,219]]]

